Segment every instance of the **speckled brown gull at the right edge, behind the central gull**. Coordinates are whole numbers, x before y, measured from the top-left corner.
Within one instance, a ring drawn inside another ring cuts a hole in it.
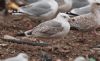
[[[71,27],[80,31],[93,31],[96,35],[96,29],[100,27],[100,3],[92,3],[91,12],[76,16],[70,19]]]

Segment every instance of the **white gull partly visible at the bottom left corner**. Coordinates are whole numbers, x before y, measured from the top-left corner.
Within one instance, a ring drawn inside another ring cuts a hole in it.
[[[25,53],[19,53],[15,57],[7,58],[7,59],[2,59],[0,61],[28,61],[28,55]]]

